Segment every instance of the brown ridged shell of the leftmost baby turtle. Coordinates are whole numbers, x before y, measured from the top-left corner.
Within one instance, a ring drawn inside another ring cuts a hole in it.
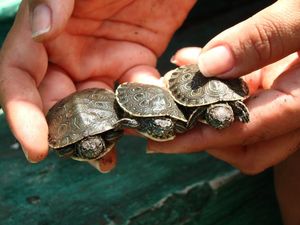
[[[112,91],[88,88],[58,101],[46,115],[49,146],[61,148],[115,128],[122,117],[115,100]]]

